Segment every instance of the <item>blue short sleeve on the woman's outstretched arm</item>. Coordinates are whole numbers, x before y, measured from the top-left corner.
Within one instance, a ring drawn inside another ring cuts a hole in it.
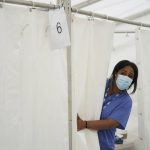
[[[132,100],[129,98],[126,102],[116,107],[108,118],[114,119],[119,123],[117,128],[125,129],[130,116],[131,108],[132,108]]]

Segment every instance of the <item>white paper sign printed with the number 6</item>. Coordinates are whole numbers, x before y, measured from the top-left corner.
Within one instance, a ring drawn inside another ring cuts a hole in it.
[[[64,8],[49,12],[49,33],[52,49],[70,46],[70,36]]]

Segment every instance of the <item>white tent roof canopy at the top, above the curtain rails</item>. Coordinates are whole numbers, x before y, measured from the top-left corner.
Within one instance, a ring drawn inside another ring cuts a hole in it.
[[[54,3],[59,0],[34,0]],[[150,0],[71,0],[72,7],[122,19],[134,20],[150,14]]]

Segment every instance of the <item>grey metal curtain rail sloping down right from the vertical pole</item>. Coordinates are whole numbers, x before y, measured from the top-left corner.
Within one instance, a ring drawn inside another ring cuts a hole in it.
[[[125,19],[120,19],[120,18],[115,18],[115,17],[111,17],[111,16],[108,16],[108,15],[93,13],[93,12],[85,11],[85,10],[77,10],[76,8],[72,8],[72,12],[78,13],[78,14],[81,14],[81,15],[86,15],[86,16],[93,16],[95,18],[108,19],[108,20],[111,20],[111,21],[116,21],[116,22],[121,22],[121,23],[126,23],[126,24],[131,24],[131,25],[137,25],[137,26],[150,28],[150,24],[125,20]]]

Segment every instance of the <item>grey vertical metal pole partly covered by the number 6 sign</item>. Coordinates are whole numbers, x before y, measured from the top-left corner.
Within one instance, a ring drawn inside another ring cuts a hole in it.
[[[68,29],[71,40],[71,0],[57,0],[63,4],[67,16]],[[69,125],[69,150],[72,150],[72,81],[71,81],[71,46],[67,47],[67,75],[68,75],[68,125]]]

